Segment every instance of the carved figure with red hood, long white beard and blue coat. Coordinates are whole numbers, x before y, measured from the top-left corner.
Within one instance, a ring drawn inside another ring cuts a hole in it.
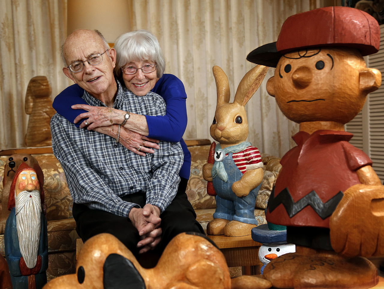
[[[35,170],[22,163],[11,184],[11,212],[4,233],[5,258],[14,289],[39,289],[47,281],[48,236],[43,203],[42,182]]]

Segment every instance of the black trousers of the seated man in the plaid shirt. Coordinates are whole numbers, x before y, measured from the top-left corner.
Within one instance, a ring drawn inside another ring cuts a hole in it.
[[[169,241],[179,233],[193,231],[205,235],[204,229],[196,221],[195,210],[185,193],[187,182],[187,179],[181,178],[174,200],[160,215],[162,236],[156,248],[157,254],[161,254]],[[122,200],[136,203],[141,207],[146,204],[146,196],[142,192],[127,195],[122,197]],[[83,242],[97,234],[110,233],[126,245],[135,256],[138,256],[141,248],[136,248],[136,245],[141,239],[129,218],[116,216],[103,210],[89,209],[86,205],[76,203],[73,203],[72,213],[76,221],[76,231]]]

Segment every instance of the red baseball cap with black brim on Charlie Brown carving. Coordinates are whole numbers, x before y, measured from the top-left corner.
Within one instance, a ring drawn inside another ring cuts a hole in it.
[[[256,48],[247,60],[276,67],[290,51],[311,47],[357,48],[362,56],[376,53],[380,44],[377,21],[366,12],[350,7],[324,7],[288,17],[277,42]]]

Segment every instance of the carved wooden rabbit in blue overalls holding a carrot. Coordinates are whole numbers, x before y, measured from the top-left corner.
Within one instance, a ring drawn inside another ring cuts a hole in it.
[[[216,192],[214,220],[207,225],[208,235],[246,236],[257,226],[255,200],[263,180],[263,162],[257,147],[245,142],[248,121],[245,104],[255,94],[268,68],[255,66],[243,77],[233,103],[229,103],[228,78],[213,67],[217,106],[210,134],[218,142],[214,164],[205,163],[203,177],[212,181]]]

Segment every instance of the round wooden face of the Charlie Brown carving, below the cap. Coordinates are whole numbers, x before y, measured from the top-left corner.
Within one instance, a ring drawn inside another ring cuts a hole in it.
[[[308,49],[280,58],[267,91],[286,117],[295,122],[346,123],[364,105],[359,68],[366,67],[357,50]]]

